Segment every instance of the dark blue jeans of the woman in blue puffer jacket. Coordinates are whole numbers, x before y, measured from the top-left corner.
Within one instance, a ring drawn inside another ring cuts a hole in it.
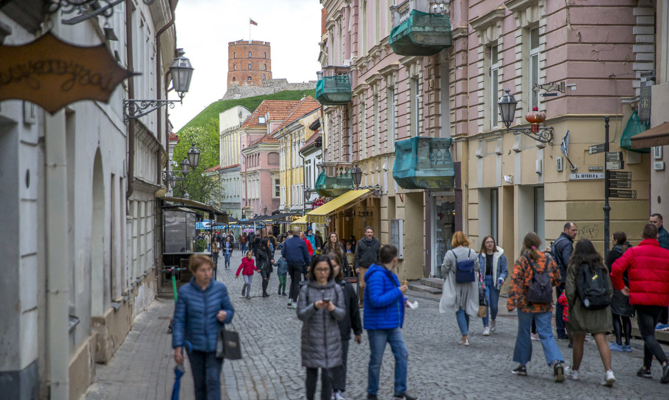
[[[188,353],[188,360],[193,373],[195,400],[220,400],[223,359],[217,359],[216,352],[193,350]]]

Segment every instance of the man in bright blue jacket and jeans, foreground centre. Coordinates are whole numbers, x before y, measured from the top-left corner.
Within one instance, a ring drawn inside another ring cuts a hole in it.
[[[395,356],[395,399],[414,400],[406,394],[408,350],[400,328],[404,323],[404,294],[406,285],[400,285],[397,275],[397,248],[383,245],[379,250],[382,265],[372,264],[365,274],[367,290],[364,298],[364,328],[370,341],[367,398],[377,399],[379,372],[386,343]]]

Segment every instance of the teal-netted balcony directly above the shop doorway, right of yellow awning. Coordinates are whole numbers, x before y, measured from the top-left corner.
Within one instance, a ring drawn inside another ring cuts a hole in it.
[[[452,140],[412,137],[395,142],[393,179],[404,189],[452,189],[455,170],[448,151]]]

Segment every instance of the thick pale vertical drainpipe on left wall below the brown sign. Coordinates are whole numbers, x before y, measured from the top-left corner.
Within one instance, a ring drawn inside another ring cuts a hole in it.
[[[70,253],[68,252],[68,154],[65,112],[45,113],[46,336],[51,399],[70,398]]]

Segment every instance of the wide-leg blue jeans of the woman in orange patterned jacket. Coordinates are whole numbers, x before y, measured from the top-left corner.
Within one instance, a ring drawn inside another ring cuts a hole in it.
[[[550,320],[553,313],[547,312],[522,312],[518,310],[518,334],[516,335],[516,346],[513,348],[513,361],[524,366],[532,359],[532,341],[530,340],[530,328],[532,320],[537,325],[537,332],[543,347],[543,355],[546,357],[546,363],[552,361],[563,362],[562,353],[555,343],[553,337],[553,328],[550,326]]]

